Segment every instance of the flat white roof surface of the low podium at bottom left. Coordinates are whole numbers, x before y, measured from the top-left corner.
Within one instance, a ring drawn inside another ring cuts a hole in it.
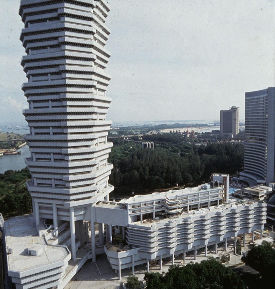
[[[6,246],[12,250],[8,254],[9,271],[26,271],[56,263],[69,255],[65,248],[50,245],[47,246],[47,251],[39,256],[28,255],[28,248],[36,244],[46,244],[44,238],[36,234],[32,215],[5,221],[5,240]]]

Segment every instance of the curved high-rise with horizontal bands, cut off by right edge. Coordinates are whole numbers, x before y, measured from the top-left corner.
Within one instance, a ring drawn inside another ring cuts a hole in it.
[[[245,93],[245,155],[241,178],[274,182],[274,87]]]

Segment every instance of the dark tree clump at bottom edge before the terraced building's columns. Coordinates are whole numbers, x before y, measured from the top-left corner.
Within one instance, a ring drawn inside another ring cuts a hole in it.
[[[145,273],[147,289],[245,289],[245,284],[230,268],[214,258],[186,266],[173,265],[165,276]]]

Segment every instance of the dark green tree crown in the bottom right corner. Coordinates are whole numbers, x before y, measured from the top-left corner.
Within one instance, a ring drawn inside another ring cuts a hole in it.
[[[241,260],[260,273],[266,288],[274,288],[275,250],[269,242],[263,241],[259,246],[252,246]]]

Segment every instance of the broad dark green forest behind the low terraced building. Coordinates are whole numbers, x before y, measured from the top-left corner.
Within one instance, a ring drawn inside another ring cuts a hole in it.
[[[114,165],[110,176],[114,193],[197,184],[208,180],[212,173],[236,173],[243,166],[242,144],[208,143],[198,147],[170,140],[156,142],[155,149],[129,142],[114,145],[109,155]]]

